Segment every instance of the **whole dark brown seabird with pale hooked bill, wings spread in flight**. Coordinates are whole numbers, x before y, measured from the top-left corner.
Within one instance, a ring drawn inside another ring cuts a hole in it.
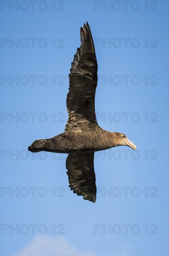
[[[81,45],[74,55],[69,74],[65,131],[50,139],[34,141],[28,150],[68,154],[66,173],[69,187],[84,200],[95,202],[95,152],[117,146],[129,146],[135,150],[136,146],[123,133],[106,131],[97,124],[97,59],[88,22],[80,27],[80,39]]]

